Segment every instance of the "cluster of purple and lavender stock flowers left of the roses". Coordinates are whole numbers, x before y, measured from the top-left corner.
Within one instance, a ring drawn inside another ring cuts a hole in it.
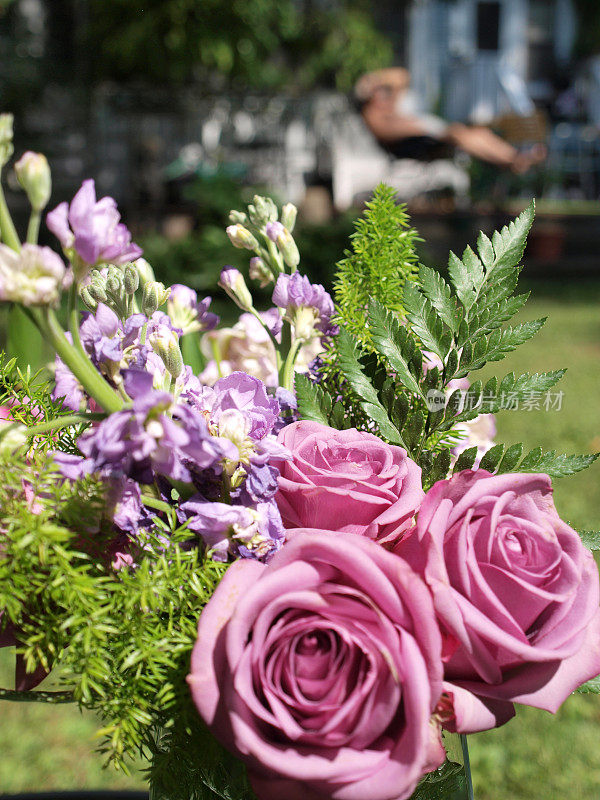
[[[165,289],[146,262],[130,261],[139,251],[118,222],[114,202],[96,202],[90,181],[70,206],[63,204],[48,215],[48,224],[74,263],[86,265],[78,280],[89,311],[67,338],[125,406],[80,436],[81,455],[55,454],[63,475],[76,480],[91,474],[107,484],[115,536],[122,541],[127,534],[130,553],[139,551],[140,534],[158,503],[176,512],[212,558],[269,560],[281,547],[284,531],[274,495],[287,450],[276,443],[275,434],[293,420],[295,409],[293,394],[280,386],[277,365],[286,364],[288,380],[290,370],[293,374],[308,366],[318,352],[319,335],[331,333],[325,324],[333,312],[329,295],[297,272],[280,276],[293,285],[301,281],[304,307],[312,303],[315,311],[318,306],[321,316],[314,319],[323,323],[289,337],[289,350],[280,353],[282,326],[296,325],[283,318],[289,304],[282,301],[280,307],[256,312],[241,274],[224,269],[221,285],[249,309],[239,325],[253,325],[253,336],[244,331],[240,343],[256,348],[262,342],[265,355],[254,367],[241,354],[220,358],[196,377],[183,362],[181,337],[210,331],[205,336],[211,339],[212,355],[217,342],[238,340],[233,331],[213,330],[218,317],[209,311],[210,298],[199,301],[182,284]],[[291,297],[300,308],[297,293]],[[101,408],[82,374],[62,354],[56,358],[54,397],[80,413]],[[123,563],[134,564],[134,559]]]

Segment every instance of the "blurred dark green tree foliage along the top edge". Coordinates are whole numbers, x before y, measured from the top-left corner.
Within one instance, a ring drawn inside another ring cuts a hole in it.
[[[391,62],[369,0],[91,0],[96,78],[189,83],[215,75],[239,88],[349,89]]]

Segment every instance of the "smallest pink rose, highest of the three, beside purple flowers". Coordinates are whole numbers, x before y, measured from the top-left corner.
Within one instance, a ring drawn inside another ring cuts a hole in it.
[[[359,533],[388,545],[411,527],[424,497],[421,469],[401,447],[306,420],[278,439],[292,453],[276,464],[284,527]]]

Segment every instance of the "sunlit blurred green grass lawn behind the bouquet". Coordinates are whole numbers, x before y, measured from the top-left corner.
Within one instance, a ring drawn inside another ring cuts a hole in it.
[[[523,319],[549,315],[540,334],[483,371],[568,367],[560,411],[504,412],[498,441],[559,452],[600,450],[600,286],[534,294]],[[600,530],[600,464],[556,482],[563,519]],[[0,651],[8,685],[9,652]],[[104,771],[94,754],[96,721],[71,706],[0,703],[0,793],[48,789],[143,788],[143,775]],[[574,695],[556,716],[521,709],[517,719],[470,737],[476,800],[593,800],[600,797],[600,697]],[[281,798],[285,800],[285,798]]]

